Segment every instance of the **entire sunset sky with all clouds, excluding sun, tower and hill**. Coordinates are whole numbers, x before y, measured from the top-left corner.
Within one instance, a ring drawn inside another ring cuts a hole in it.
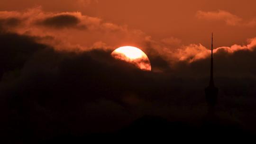
[[[9,122],[1,134],[28,127],[19,141],[110,132],[145,115],[200,119],[211,33],[217,113],[256,132],[255,6],[256,0],[0,0],[0,122]],[[152,71],[111,56],[128,45],[146,54]]]

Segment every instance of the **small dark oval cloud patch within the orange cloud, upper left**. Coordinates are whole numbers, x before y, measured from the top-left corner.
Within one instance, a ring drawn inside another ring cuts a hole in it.
[[[50,18],[46,18],[38,24],[46,27],[55,28],[68,28],[68,27],[78,27],[80,19],[73,15],[57,15]],[[86,28],[86,26],[80,26],[79,28]]]

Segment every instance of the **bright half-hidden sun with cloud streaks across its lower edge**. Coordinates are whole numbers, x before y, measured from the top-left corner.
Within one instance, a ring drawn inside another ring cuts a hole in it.
[[[116,59],[132,63],[141,70],[151,71],[151,64],[147,55],[137,47],[122,46],[114,50],[111,55]]]

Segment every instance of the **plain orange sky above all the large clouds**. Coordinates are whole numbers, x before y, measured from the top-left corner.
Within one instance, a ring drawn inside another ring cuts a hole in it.
[[[230,46],[242,44],[256,33],[255,27],[228,26],[222,20],[195,16],[198,10],[220,9],[250,21],[256,18],[255,0],[1,0],[0,10],[24,10],[35,5],[46,11],[81,11],[84,15],[141,29],[155,39],[174,36],[184,44],[209,45],[207,36],[213,31],[216,46]]]

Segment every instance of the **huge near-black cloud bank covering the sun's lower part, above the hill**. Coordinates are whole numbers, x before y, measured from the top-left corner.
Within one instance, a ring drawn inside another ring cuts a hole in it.
[[[209,59],[170,67],[161,56],[148,55],[152,69],[161,72],[145,72],[110,51],[56,51],[35,37],[5,32],[0,40],[1,134],[13,141],[111,132],[143,115],[192,123],[206,113]],[[255,126],[256,71],[249,63],[256,53],[225,53],[214,54],[217,112]]]

